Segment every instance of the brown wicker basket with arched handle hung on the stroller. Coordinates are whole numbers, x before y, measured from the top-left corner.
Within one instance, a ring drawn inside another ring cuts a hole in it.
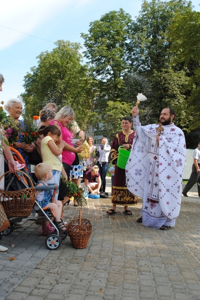
[[[11,216],[20,216],[27,217],[32,211],[32,208],[36,199],[36,190],[33,186],[31,178],[24,172],[17,170],[17,173],[20,172],[22,175],[25,175],[30,182],[31,187],[23,188],[19,190],[4,190],[0,189],[0,203],[2,204],[7,217]],[[5,172],[0,180],[5,176],[9,171]],[[26,178],[25,177],[25,178]]]

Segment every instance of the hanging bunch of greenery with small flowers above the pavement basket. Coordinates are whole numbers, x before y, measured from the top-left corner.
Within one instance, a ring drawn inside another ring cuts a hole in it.
[[[84,196],[84,189],[80,186],[78,186],[73,181],[65,181],[65,177],[61,175],[61,180],[63,180],[64,184],[67,187],[68,197],[74,197],[74,199],[77,201],[78,206],[81,208],[84,204],[87,204],[87,199]]]

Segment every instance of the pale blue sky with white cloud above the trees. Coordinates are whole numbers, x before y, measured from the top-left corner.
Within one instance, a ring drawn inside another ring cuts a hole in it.
[[[142,0],[6,0],[0,3],[0,73],[5,78],[0,101],[17,98],[23,79],[37,66],[37,56],[51,51],[59,39],[80,42],[89,24],[123,8],[134,19]],[[200,11],[200,0],[192,0]]]

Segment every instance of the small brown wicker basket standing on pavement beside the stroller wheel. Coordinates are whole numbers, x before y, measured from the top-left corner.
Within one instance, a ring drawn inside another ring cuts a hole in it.
[[[92,224],[88,219],[75,219],[69,222],[67,234],[70,237],[72,246],[76,249],[83,249],[87,246],[92,233]]]

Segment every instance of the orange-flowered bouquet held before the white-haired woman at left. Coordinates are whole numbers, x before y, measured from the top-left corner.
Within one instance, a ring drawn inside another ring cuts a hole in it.
[[[33,117],[24,117],[23,124],[21,127],[21,142],[32,143],[37,138],[40,138],[39,132],[37,130],[36,120],[39,118],[38,115],[33,115]]]

